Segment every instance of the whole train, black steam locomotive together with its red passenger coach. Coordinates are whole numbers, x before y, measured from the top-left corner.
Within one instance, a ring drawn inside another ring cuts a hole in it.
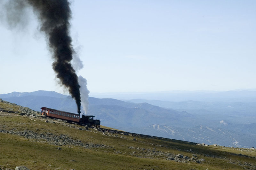
[[[92,115],[82,115],[80,118],[80,114],[64,112],[56,109],[51,109],[48,107],[41,107],[41,114],[48,116],[50,118],[56,118],[61,120],[67,120],[68,123],[76,122],[78,124],[84,124],[92,127],[100,128],[100,120],[94,120]]]

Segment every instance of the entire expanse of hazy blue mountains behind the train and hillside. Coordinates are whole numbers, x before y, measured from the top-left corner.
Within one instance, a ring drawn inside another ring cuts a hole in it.
[[[3,100],[40,111],[41,107],[76,112],[70,97],[54,91],[0,94]],[[89,115],[101,124],[135,133],[197,143],[256,146],[255,103],[159,101],[89,97]],[[173,109],[174,108],[174,109]],[[245,140],[246,139],[246,140]]]

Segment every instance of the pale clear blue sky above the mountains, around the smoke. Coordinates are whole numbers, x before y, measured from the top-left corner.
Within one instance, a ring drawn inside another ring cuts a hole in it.
[[[71,36],[91,92],[256,88],[256,1],[74,0]],[[63,92],[33,12],[1,24],[0,93]]]

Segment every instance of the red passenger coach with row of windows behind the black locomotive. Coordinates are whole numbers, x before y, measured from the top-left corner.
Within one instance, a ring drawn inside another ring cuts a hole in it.
[[[41,111],[42,115],[46,115],[48,117],[67,120],[68,122],[79,123],[80,121],[79,114],[64,112],[56,109],[51,109],[48,107],[41,107],[41,109],[42,109]]]

